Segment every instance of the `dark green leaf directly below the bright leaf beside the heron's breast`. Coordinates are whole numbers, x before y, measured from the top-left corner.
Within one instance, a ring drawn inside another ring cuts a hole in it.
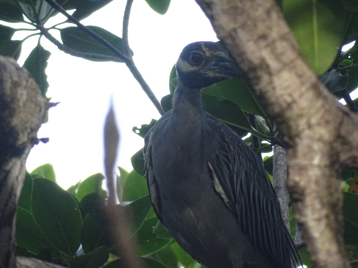
[[[152,204],[149,195],[139,198],[125,206],[128,212],[127,214],[129,215],[130,225],[135,232],[142,226],[151,207]]]

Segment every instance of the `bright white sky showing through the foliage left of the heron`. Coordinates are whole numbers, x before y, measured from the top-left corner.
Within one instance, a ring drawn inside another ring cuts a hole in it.
[[[125,1],[113,1],[84,19],[84,25],[100,26],[122,36]],[[63,21],[49,20],[46,26]],[[7,24],[9,25],[9,24]],[[17,28],[28,28],[19,25]],[[24,32],[13,39],[22,39]],[[33,32],[26,32],[32,34]],[[51,31],[56,37],[58,31]],[[26,40],[19,64],[36,46],[38,37]],[[129,41],[134,61],[157,98],[169,94],[169,73],[184,46],[195,41],[216,41],[216,35],[193,0],[173,0],[165,15],[155,13],[144,0],[134,1],[129,25]],[[36,145],[26,163],[31,172],[51,163],[63,188],[97,172],[103,173],[103,120],[113,95],[121,145],[118,165],[132,170],[131,156],[143,147],[143,139],[132,132],[133,126],[148,124],[160,115],[125,64],[98,63],[59,51],[47,39],[41,44],[52,55],[46,73],[50,87],[47,96],[61,103],[50,109],[49,121],[38,137],[49,137],[47,144]]]

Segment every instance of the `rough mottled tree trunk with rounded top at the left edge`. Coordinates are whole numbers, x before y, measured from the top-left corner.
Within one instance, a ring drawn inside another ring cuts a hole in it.
[[[31,258],[16,260],[15,218],[25,178],[30,149],[38,143],[37,131],[45,113],[46,101],[28,71],[13,59],[0,56],[0,267],[30,267],[25,260],[43,267]],[[48,266],[50,267],[50,266]]]

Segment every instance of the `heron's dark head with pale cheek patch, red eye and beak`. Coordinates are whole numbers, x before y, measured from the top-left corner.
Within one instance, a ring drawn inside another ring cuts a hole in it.
[[[188,88],[204,88],[224,79],[242,76],[240,68],[220,41],[185,46],[176,62],[180,81]]]

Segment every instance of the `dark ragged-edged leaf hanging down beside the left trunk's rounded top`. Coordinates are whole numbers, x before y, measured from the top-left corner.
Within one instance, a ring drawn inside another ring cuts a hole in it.
[[[27,57],[24,67],[29,71],[39,85],[42,95],[45,97],[48,89],[47,75],[45,73],[50,51],[37,45]]]

